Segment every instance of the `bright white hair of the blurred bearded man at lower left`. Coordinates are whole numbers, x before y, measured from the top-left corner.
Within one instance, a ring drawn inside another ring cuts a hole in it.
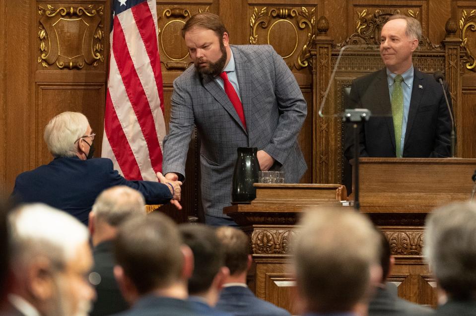
[[[8,215],[11,262],[27,265],[38,255],[64,266],[78,247],[87,244],[89,233],[81,222],[45,204],[25,204]]]

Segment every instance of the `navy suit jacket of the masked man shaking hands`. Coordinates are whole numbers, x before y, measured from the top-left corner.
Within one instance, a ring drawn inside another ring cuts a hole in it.
[[[121,185],[140,191],[148,204],[163,204],[172,198],[165,184],[126,180],[108,158],[77,157],[56,158],[48,165],[21,173],[16,177],[12,197],[18,202],[41,202],[62,209],[87,225],[96,197],[105,189]]]

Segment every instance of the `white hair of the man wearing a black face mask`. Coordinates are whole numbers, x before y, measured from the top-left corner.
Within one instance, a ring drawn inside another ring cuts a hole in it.
[[[45,127],[45,142],[54,157],[74,157],[76,140],[84,136],[89,126],[87,118],[79,112],[63,112]]]

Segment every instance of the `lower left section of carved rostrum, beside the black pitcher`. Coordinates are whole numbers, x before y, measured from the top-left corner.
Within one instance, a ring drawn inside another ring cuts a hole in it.
[[[310,206],[342,206],[346,190],[342,185],[255,184],[256,199],[250,204],[225,207],[250,236],[254,265],[248,285],[264,300],[296,314],[293,306],[294,280],[287,264],[290,242],[299,215]]]

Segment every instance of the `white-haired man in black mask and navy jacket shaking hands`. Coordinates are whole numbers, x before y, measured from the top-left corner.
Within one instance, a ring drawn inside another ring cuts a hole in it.
[[[140,191],[148,204],[171,201],[179,209],[180,181],[128,181],[107,158],[92,158],[94,137],[87,118],[77,112],[63,112],[45,127],[45,141],[55,158],[47,165],[24,172],[16,178],[12,196],[22,202],[42,202],[62,209],[87,225],[94,200],[103,190],[128,186]]]

